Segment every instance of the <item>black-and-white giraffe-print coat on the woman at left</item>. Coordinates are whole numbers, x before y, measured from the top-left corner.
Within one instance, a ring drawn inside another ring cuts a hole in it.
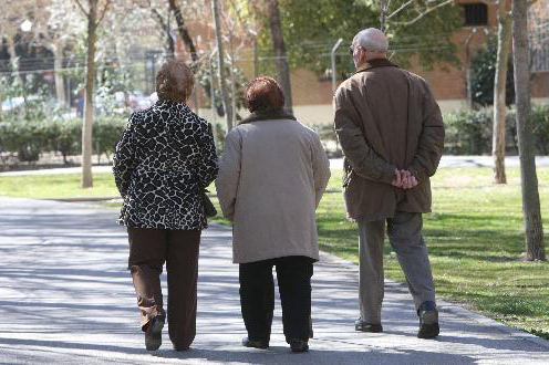
[[[201,191],[217,176],[211,126],[183,103],[160,100],[130,117],[114,154],[124,202],[118,223],[134,228],[207,228]]]

